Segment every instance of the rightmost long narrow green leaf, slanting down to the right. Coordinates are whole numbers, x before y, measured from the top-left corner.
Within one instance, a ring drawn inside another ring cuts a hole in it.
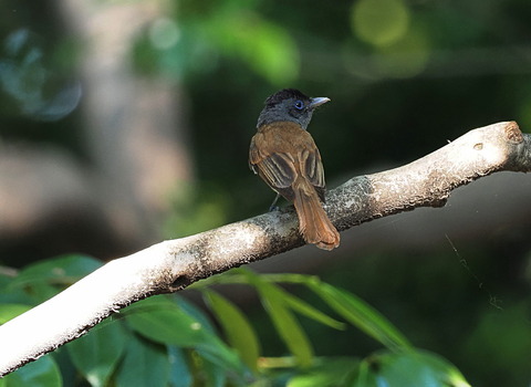
[[[333,310],[389,349],[409,349],[407,338],[374,310],[354,294],[322,282],[309,282],[308,286]]]

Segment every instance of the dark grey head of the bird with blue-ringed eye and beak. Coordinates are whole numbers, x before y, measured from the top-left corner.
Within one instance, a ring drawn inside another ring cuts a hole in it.
[[[284,88],[266,100],[266,107],[258,117],[260,127],[279,121],[291,121],[305,130],[315,107],[329,102],[326,97],[310,98],[295,88]]]

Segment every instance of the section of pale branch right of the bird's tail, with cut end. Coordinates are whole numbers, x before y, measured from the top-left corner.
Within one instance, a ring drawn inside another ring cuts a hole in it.
[[[408,165],[355,177],[329,199],[341,230],[417,207],[442,207],[451,190],[496,171],[531,168],[531,137],[516,122],[473,129]]]

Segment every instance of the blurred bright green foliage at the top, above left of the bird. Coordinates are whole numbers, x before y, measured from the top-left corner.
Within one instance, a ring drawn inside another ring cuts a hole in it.
[[[156,20],[134,53],[140,69],[187,77],[238,59],[272,84],[293,82],[299,53],[288,31],[257,12],[258,1],[183,1],[173,19]]]

